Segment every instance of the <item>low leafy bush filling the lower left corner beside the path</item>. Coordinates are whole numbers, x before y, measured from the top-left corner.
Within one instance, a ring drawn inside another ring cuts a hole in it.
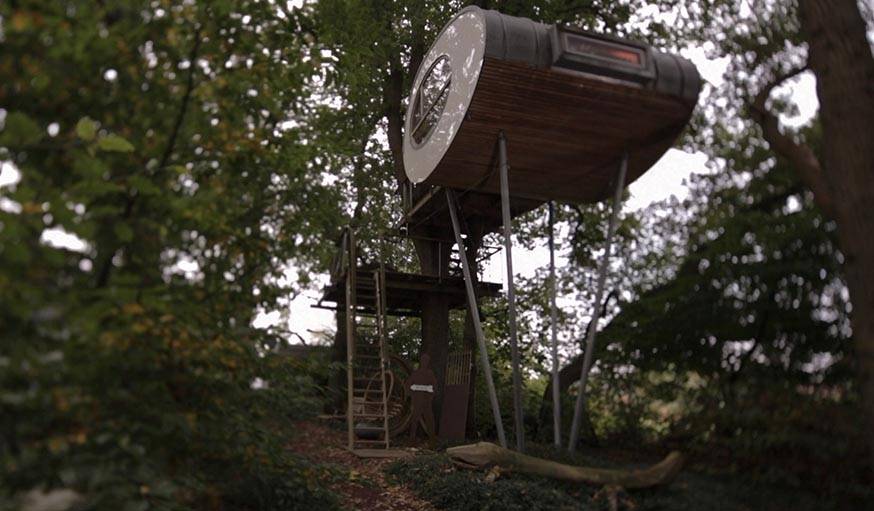
[[[43,487],[101,509],[336,507],[283,446],[288,420],[320,404],[301,365],[134,309],[96,338],[0,358],[4,499]]]

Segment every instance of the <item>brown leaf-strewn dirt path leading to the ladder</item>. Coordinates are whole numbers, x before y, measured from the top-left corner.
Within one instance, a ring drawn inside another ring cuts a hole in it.
[[[345,481],[332,486],[345,507],[362,511],[433,511],[434,507],[408,489],[386,480],[384,459],[361,459],[345,448],[346,437],[316,421],[292,423],[295,436],[289,447],[314,463],[330,463],[348,471]]]

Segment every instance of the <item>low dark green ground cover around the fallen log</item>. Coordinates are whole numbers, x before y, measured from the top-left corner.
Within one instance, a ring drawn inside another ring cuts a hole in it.
[[[640,460],[640,449],[588,451],[569,455],[564,450],[532,444],[528,454],[559,463],[604,468],[629,468],[613,458]],[[459,469],[445,455],[417,456],[397,461],[387,467],[388,474],[411,488],[438,509],[579,509],[606,510],[609,505],[598,488],[557,480],[501,471],[490,481],[486,471]],[[633,509],[741,511],[759,509],[778,511],[838,510],[864,507],[871,498],[870,488],[844,485],[828,491],[812,487],[797,488],[777,480],[756,480],[744,473],[731,478],[684,470],[667,488],[631,492],[626,496]]]

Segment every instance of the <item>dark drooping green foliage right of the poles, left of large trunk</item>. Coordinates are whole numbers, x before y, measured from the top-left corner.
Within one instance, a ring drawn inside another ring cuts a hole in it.
[[[662,266],[669,278],[642,279],[604,328],[593,421],[613,440],[677,442],[714,466],[840,487],[853,502],[867,469],[844,454],[864,445],[835,227],[749,136],[674,206],[696,214],[673,242],[682,257]]]

